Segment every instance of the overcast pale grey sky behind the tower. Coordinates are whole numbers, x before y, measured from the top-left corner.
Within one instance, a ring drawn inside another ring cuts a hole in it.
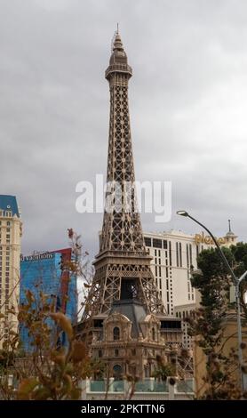
[[[67,246],[68,228],[98,251],[102,215],[76,213],[76,183],[106,173],[116,22],[136,178],[172,181],[171,222],[143,229],[200,231],[182,208],[247,241],[245,0],[0,0],[0,194],[18,198],[22,252]]]

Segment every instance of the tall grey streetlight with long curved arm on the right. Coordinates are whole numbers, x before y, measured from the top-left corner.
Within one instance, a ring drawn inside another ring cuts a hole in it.
[[[239,362],[239,373],[240,373],[239,375],[240,375],[241,390],[242,390],[242,393],[243,393],[243,390],[245,390],[246,382],[243,379],[243,370],[242,370],[243,352],[242,352],[242,326],[241,326],[241,306],[240,306],[240,291],[239,291],[239,287],[240,287],[240,283],[242,282],[243,278],[245,278],[247,276],[247,271],[245,271],[245,273],[243,273],[243,275],[241,277],[239,277],[239,278],[236,277],[235,276],[235,272],[230,267],[230,265],[229,265],[229,263],[227,261],[227,258],[225,256],[225,254],[221,250],[221,248],[219,246],[219,243],[217,242],[217,240],[215,239],[215,237],[213,237],[211,231],[209,229],[207,229],[203,225],[203,223],[197,221],[195,218],[193,218],[186,211],[177,211],[177,214],[180,215],[180,216],[185,216],[187,218],[190,218],[192,221],[195,221],[195,223],[197,223],[198,225],[200,225],[203,229],[205,229],[208,232],[208,234],[211,236],[211,239],[213,240],[214,244],[216,245],[216,247],[219,250],[219,255],[220,255],[222,261],[227,266],[227,269],[228,269],[231,277],[233,277],[233,279],[234,279],[234,284],[235,284],[236,318],[237,318],[238,362]]]

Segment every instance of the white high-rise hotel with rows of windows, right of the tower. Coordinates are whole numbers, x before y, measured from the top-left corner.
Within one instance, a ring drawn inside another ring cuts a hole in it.
[[[168,315],[186,318],[195,309],[195,289],[190,278],[192,269],[197,269],[197,256],[203,251],[215,246],[211,237],[201,234],[188,235],[182,231],[171,229],[163,233],[144,233],[145,243],[150,255],[153,256],[151,269],[155,283],[162,296]],[[219,237],[219,245],[236,243],[236,236],[229,231],[224,237]],[[198,297],[197,297],[198,299]],[[187,324],[182,321],[184,330],[184,345],[191,348],[190,337],[187,335]]]

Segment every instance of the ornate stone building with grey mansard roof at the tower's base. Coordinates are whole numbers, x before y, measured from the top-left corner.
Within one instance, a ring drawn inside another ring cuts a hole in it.
[[[162,326],[165,324],[165,328]],[[173,326],[173,328],[170,328]],[[175,328],[177,326],[177,328]],[[99,329],[92,331],[92,356],[107,365],[109,376],[150,377],[155,369],[156,356],[168,358],[180,347],[179,321],[161,321],[147,314],[137,301],[116,301],[110,315]]]

